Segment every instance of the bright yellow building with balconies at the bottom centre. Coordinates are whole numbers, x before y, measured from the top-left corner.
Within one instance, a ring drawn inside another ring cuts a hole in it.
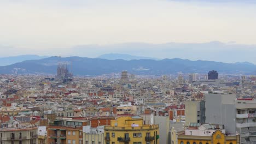
[[[139,116],[118,117],[104,127],[105,143],[159,143],[159,127],[156,124],[143,124]]]

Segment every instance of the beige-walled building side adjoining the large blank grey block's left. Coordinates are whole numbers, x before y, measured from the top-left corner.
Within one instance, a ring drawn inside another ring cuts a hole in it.
[[[185,101],[185,125],[205,123],[205,101]]]

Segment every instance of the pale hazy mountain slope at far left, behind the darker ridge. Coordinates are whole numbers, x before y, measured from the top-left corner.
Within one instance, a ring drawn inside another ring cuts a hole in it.
[[[46,56],[38,56],[38,55],[20,55],[13,57],[0,57],[0,66],[10,65],[30,59],[42,59],[46,58]]]

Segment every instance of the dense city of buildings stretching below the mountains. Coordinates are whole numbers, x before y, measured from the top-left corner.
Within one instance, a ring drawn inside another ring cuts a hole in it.
[[[254,143],[256,76],[1,75],[1,143]]]

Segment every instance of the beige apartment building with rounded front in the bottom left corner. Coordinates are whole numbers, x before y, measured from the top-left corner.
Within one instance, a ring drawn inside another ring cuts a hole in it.
[[[0,128],[0,143],[36,144],[37,127],[26,122],[4,123]]]

